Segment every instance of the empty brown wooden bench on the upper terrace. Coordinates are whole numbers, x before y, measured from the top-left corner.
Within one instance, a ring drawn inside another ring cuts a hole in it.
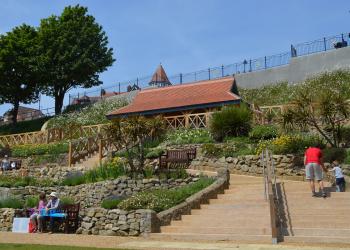
[[[168,163],[170,163],[175,167],[187,168],[194,158],[196,158],[196,148],[167,150],[159,157],[159,167],[168,168]]]

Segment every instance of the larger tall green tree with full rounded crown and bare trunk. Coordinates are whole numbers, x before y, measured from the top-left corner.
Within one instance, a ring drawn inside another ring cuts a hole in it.
[[[60,16],[41,20],[39,47],[44,93],[55,98],[61,113],[64,96],[72,88],[100,85],[99,74],[114,62],[108,38],[85,7],[64,8]]]

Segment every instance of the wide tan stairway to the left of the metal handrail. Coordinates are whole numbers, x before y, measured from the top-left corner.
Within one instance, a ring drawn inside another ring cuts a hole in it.
[[[231,175],[229,189],[153,237],[271,243],[270,212],[263,178]]]

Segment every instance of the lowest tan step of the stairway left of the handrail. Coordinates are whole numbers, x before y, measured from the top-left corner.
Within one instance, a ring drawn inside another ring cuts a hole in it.
[[[240,243],[271,243],[271,235],[244,234],[197,234],[197,233],[159,233],[151,239],[171,239],[183,241],[237,241]]]

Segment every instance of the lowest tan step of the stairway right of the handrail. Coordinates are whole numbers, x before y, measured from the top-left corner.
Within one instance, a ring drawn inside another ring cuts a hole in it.
[[[350,237],[335,237],[335,236],[284,236],[285,243],[337,243],[350,244]]]

